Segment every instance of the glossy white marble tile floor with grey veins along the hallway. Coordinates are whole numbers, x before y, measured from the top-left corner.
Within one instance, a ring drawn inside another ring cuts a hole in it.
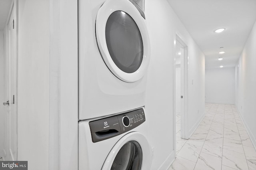
[[[180,138],[168,170],[256,170],[256,151],[235,105],[205,104],[206,115],[188,140]]]

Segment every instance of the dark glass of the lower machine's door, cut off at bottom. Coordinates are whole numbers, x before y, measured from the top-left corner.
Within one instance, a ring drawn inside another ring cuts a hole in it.
[[[129,141],[119,150],[111,170],[140,170],[142,166],[142,149],[136,141]]]

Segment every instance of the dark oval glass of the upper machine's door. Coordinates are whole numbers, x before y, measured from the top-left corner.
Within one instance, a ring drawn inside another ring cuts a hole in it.
[[[116,66],[126,73],[134,73],[141,65],[143,42],[140,30],[132,17],[113,12],[106,23],[106,43]]]

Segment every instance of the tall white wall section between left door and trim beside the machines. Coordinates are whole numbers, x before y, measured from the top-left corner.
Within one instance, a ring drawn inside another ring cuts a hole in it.
[[[49,0],[18,0],[18,160],[49,160]]]

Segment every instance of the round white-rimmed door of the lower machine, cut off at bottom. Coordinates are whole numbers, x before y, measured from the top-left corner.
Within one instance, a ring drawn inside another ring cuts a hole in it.
[[[139,132],[130,132],[114,145],[102,170],[149,170],[151,148],[148,140]]]

